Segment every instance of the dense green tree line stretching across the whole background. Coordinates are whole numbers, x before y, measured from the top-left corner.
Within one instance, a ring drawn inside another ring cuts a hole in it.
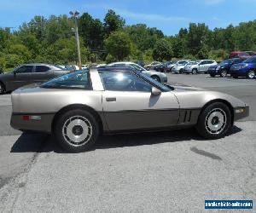
[[[256,51],[256,20],[210,30],[204,23],[190,23],[167,37],[145,24],[125,26],[112,9],[104,20],[88,13],[78,18],[83,63],[106,60],[212,59],[224,60],[232,50]],[[18,31],[0,28],[0,66],[13,69],[26,62],[77,64],[74,18],[67,15],[35,16]]]

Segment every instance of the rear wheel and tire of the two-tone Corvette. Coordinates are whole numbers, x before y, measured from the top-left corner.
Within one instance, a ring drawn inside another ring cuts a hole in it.
[[[78,120],[80,122],[76,124]],[[99,124],[90,112],[81,109],[71,110],[58,118],[54,134],[61,147],[67,152],[80,153],[89,150],[96,143],[99,135]],[[85,137],[84,141],[72,141],[72,137],[75,136],[79,136],[79,140],[83,140]]]

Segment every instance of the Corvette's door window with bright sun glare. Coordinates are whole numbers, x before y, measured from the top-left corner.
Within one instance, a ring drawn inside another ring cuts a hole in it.
[[[151,92],[152,85],[131,72],[99,72],[106,90]]]

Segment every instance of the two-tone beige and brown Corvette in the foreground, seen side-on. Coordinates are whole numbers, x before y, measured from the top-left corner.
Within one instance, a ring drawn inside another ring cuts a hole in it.
[[[103,133],[195,129],[226,135],[249,107],[233,96],[161,84],[143,72],[105,67],[73,72],[12,93],[11,126],[52,133],[69,152],[88,150]]]

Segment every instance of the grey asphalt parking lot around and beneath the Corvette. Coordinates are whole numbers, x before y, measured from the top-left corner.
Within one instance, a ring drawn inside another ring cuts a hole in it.
[[[195,130],[108,135],[87,153],[63,153],[50,135],[9,126],[0,96],[0,211],[204,212],[205,199],[256,199],[256,80],[168,73],[250,106],[229,136]]]

